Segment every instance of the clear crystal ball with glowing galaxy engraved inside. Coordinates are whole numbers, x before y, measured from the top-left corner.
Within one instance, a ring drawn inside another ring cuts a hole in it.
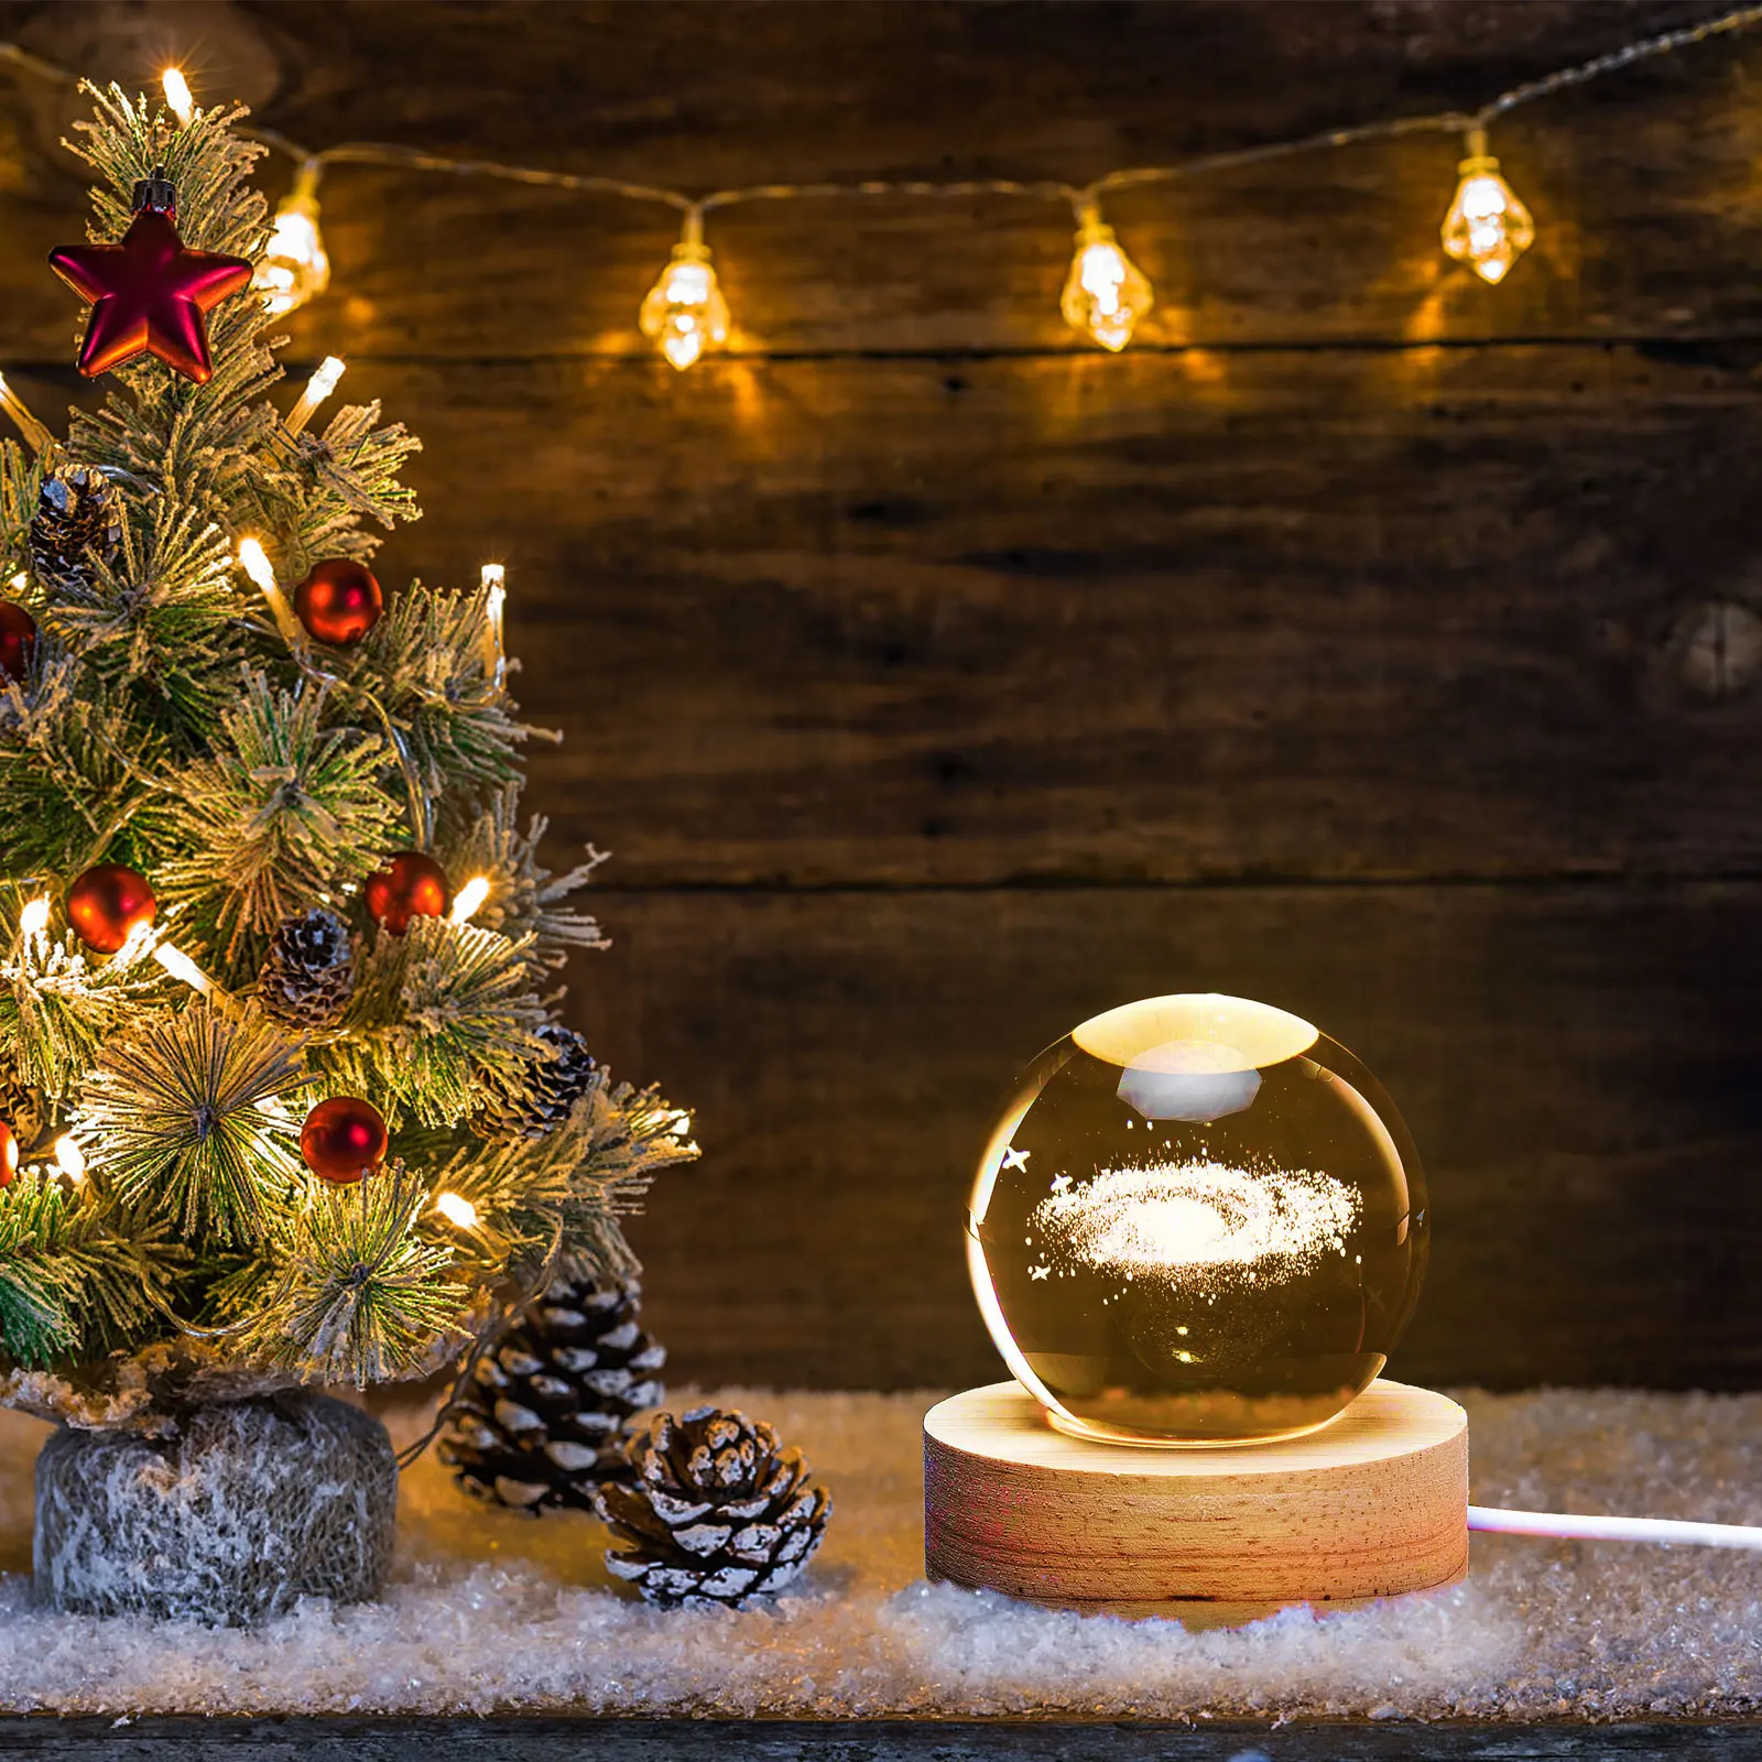
[[[1061,1431],[1230,1445],[1350,1406],[1408,1325],[1427,1235],[1376,1078],[1284,1010],[1188,994],[1092,1017],[1022,1073],[967,1263]]]

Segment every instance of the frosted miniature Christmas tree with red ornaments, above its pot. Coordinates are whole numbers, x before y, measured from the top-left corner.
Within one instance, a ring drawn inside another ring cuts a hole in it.
[[[500,583],[382,596],[416,439],[270,403],[241,116],[97,93],[109,393],[0,444],[0,1403],[88,1427],[437,1369],[696,1154],[553,1018]]]

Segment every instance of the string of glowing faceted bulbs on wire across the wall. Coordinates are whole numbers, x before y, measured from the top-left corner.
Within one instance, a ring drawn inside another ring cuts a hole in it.
[[[268,294],[271,317],[291,312],[328,287],[329,259],[319,234],[317,190],[324,173],[333,166],[421,171],[581,196],[615,196],[633,203],[671,208],[680,215],[680,241],[643,301],[638,324],[673,366],[687,368],[705,352],[726,344],[731,322],[728,301],[722,298],[712,255],[703,240],[707,215],[770,201],[837,201],[848,197],[966,201],[980,196],[1004,196],[1070,206],[1077,220],[1077,254],[1059,308],[1073,329],[1107,349],[1119,351],[1131,340],[1138,321],[1154,307],[1154,289],[1144,271],[1121,248],[1114,229],[1103,224],[1101,201],[1105,196],[1366,141],[1394,141],[1415,134],[1461,134],[1466,157],[1459,167],[1461,181],[1455,199],[1441,227],[1441,245],[1448,255],[1466,263],[1482,280],[1499,282],[1535,241],[1535,224],[1528,208],[1499,176],[1498,160],[1487,153],[1487,132],[1492,123],[1526,104],[1588,85],[1605,74],[1621,72],[1640,62],[1656,60],[1662,55],[1716,37],[1751,30],[1757,25],[1762,25],[1762,4],[1741,5],[1693,25],[1640,37],[1536,79],[1526,79],[1508,86],[1478,109],[1431,111],[1351,123],[1290,139],[1263,141],[1256,146],[1202,153],[1165,166],[1122,166],[1089,183],[1068,183],[1057,178],[960,178],[953,181],[863,178],[860,181],[747,183],[692,196],[657,183],[597,173],[552,171],[543,166],[516,166],[495,159],[460,159],[388,141],[342,141],[314,150],[277,129],[247,127],[241,132],[248,139],[294,162],[294,189],[277,210],[275,231],[270,238],[266,263],[259,270],[257,285]],[[56,85],[78,85],[78,76],[70,69],[48,62],[16,42],[0,42],[0,65]],[[187,102],[181,74],[171,69],[167,76],[176,79],[176,90]]]

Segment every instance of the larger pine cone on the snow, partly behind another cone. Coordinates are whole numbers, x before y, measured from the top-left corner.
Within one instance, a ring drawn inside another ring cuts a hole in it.
[[[516,1512],[594,1510],[594,1487],[629,1478],[631,1415],[655,1408],[666,1348],[638,1325],[641,1288],[552,1279],[472,1380],[453,1392],[440,1461],[458,1484]]]

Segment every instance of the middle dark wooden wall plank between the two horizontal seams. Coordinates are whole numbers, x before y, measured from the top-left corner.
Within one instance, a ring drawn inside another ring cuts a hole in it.
[[[349,388],[426,440],[426,518],[381,574],[507,562],[516,689],[566,737],[534,788],[620,886],[1755,874],[1758,363],[358,363]]]

